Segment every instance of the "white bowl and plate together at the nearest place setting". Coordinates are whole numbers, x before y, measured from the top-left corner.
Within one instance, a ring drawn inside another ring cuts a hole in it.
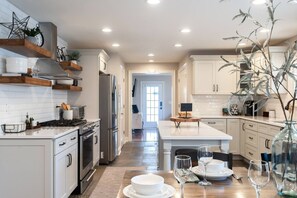
[[[164,178],[154,174],[138,175],[131,179],[131,185],[123,189],[130,198],[168,198],[175,194],[175,189],[164,184]]]

